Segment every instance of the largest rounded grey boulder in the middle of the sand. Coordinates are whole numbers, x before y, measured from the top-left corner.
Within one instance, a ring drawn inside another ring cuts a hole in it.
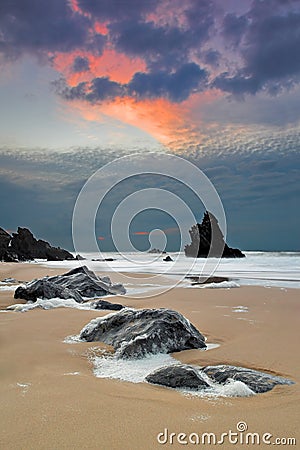
[[[206,348],[204,336],[182,314],[170,309],[124,309],[98,317],[81,331],[84,341],[112,345],[121,358]]]

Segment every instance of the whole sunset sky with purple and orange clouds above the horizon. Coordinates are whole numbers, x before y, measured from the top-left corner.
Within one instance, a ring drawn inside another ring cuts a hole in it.
[[[299,48],[299,0],[2,0],[0,226],[71,249],[85,181],[152,151],[209,177],[231,245],[300,250]],[[149,212],[131,224],[138,248],[153,228],[176,247],[174,220]]]

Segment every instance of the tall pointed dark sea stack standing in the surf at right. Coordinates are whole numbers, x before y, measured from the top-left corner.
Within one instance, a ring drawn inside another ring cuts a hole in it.
[[[207,258],[208,256],[243,258],[245,256],[238,248],[228,247],[217,219],[208,211],[205,212],[201,224],[193,225],[189,233],[192,242],[185,246],[186,256],[194,258]]]

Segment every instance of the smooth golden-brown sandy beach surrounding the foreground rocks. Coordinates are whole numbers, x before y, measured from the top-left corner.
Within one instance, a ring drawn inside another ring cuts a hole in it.
[[[10,276],[26,281],[62,272],[32,264],[0,265],[0,279]],[[180,444],[176,437],[172,444],[169,438],[165,445],[159,444],[157,435],[167,429],[176,436],[207,432],[219,437],[235,432],[241,421],[249,432],[270,433],[270,443],[276,438],[296,438],[299,446],[298,289],[175,288],[147,299],[117,297],[116,302],[175,309],[209,343],[220,344],[208,351],[173,355],[184,363],[245,366],[285,376],[295,384],[247,398],[201,398],[147,383],[100,379],[94,376],[88,356],[104,345],[63,341],[107,312],[67,308],[2,312],[1,449],[194,448],[197,445]],[[13,291],[0,293],[1,308],[13,303]],[[247,307],[248,312],[235,312],[237,306]],[[264,448],[267,444],[226,441],[220,446]]]

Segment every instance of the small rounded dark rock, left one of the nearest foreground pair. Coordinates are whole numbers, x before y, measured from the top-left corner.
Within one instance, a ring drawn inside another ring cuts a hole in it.
[[[201,371],[186,364],[162,367],[146,377],[148,383],[160,384],[172,388],[206,389],[209,384],[204,380]]]

